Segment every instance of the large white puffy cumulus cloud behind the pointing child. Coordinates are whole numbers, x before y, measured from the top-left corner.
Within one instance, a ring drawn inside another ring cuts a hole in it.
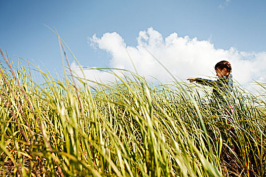
[[[93,35],[89,43],[96,49],[104,50],[111,56],[108,66],[135,72],[130,57],[138,74],[161,82],[170,80],[170,75],[147,51],[163,63],[177,78],[215,76],[214,65],[227,60],[231,63],[233,77],[242,85],[253,80],[266,82],[266,53],[240,52],[235,48],[229,50],[215,49],[208,40],[198,40],[189,36],[172,33],[166,38],[152,27],[140,31],[136,46],[127,46],[124,39],[116,32],[105,33],[101,37]],[[74,67],[74,64],[72,64]],[[77,67],[75,67],[77,68]],[[82,73],[76,69],[81,77]],[[120,74],[119,72],[117,72]],[[113,81],[113,76],[100,70],[86,70],[87,79],[101,82]]]

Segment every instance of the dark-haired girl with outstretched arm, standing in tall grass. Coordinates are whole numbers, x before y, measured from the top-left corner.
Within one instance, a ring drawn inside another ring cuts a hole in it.
[[[214,69],[217,80],[209,80],[202,78],[188,78],[190,82],[196,81],[197,83],[213,87],[213,96],[218,102],[226,103],[229,101],[230,92],[233,91],[232,67],[231,64],[225,60],[218,62]],[[230,105],[230,104],[229,104]]]

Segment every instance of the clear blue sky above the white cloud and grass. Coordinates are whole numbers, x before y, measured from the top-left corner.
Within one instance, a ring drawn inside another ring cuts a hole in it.
[[[0,16],[2,50],[14,62],[15,56],[28,58],[37,65],[44,63],[52,72],[62,67],[60,50],[56,35],[43,24],[55,27],[79,62],[88,67],[110,66],[114,59],[112,51],[97,47],[97,42],[96,48],[91,47],[88,38],[94,34],[100,38],[116,32],[126,46],[136,47],[139,32],[149,27],[163,38],[175,32],[225,51],[233,47],[263,54],[266,49],[266,1],[1,0]]]

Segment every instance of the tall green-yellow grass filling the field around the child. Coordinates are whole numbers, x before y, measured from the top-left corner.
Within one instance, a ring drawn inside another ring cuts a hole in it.
[[[265,176],[264,83],[259,97],[236,87],[232,111],[194,84],[133,74],[92,88],[40,71],[38,85],[0,69],[3,176]]]

